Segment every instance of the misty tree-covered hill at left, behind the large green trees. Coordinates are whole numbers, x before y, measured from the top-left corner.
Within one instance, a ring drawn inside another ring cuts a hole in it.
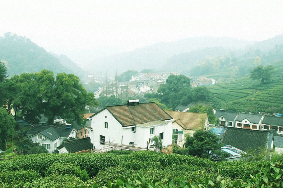
[[[83,72],[67,57],[55,57],[30,39],[10,33],[0,37],[0,60],[7,63],[9,77],[23,72],[39,72],[42,69],[53,71],[55,75],[60,72],[68,74]]]

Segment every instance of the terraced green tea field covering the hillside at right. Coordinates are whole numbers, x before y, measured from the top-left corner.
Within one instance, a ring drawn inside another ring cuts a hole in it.
[[[236,108],[239,112],[278,112],[283,101],[283,62],[272,64],[271,81],[260,84],[246,75],[209,86],[208,101],[216,109]]]

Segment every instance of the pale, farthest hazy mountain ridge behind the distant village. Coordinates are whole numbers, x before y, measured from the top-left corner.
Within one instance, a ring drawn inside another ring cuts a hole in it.
[[[206,47],[221,46],[224,48],[244,48],[254,42],[237,40],[233,38],[217,38],[217,37],[194,37],[174,42],[164,42],[153,44],[143,48],[137,48],[131,52],[120,53],[110,57],[104,57],[94,60],[90,67],[95,73],[105,74],[106,68],[110,74],[114,72],[123,72],[128,69],[140,71],[144,68],[156,70],[169,70],[166,67],[167,59],[181,53],[188,53],[192,50],[202,49]]]

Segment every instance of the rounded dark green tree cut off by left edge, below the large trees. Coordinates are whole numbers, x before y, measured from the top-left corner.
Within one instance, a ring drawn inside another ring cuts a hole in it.
[[[6,109],[0,107],[0,150],[5,150],[6,140],[14,133],[16,121],[7,113]]]

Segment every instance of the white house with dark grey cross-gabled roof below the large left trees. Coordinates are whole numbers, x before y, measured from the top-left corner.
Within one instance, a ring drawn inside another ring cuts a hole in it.
[[[32,125],[26,135],[34,143],[44,146],[49,153],[52,153],[64,139],[75,138],[76,131],[66,126],[44,126]]]

